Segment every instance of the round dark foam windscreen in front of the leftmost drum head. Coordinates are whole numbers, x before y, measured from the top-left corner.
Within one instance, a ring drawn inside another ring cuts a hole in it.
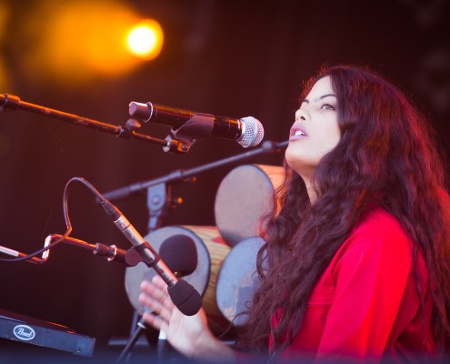
[[[185,235],[174,235],[166,238],[159,248],[159,256],[167,268],[184,277],[197,268],[197,248],[192,238]]]

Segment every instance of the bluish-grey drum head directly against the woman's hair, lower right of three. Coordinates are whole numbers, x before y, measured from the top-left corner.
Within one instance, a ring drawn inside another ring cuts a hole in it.
[[[264,244],[263,238],[246,238],[231,249],[220,269],[215,288],[217,306],[235,326],[245,322],[245,315],[236,315],[248,308],[261,285],[256,272],[256,254]]]

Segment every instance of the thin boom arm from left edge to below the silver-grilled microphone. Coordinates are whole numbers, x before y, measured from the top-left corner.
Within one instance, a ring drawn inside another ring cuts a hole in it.
[[[135,127],[130,124],[127,126],[116,126],[97,121],[84,116],[65,113],[64,111],[55,110],[45,106],[39,106],[22,101],[18,96],[10,94],[0,95],[0,110],[5,112],[15,111],[17,109],[25,110],[34,114],[49,116],[55,119],[63,120],[65,122],[75,124],[77,126],[90,127],[95,130],[100,130],[106,133],[114,134],[115,136],[123,137],[125,139],[137,139],[145,142],[153,143],[163,147],[165,152],[175,152],[185,154],[189,151],[187,144],[180,140],[176,140],[171,136],[166,136],[165,139],[158,139],[153,136],[139,134],[135,132]]]

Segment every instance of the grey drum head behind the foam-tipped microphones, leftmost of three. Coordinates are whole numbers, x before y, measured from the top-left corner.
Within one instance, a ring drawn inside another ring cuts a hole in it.
[[[203,296],[209,282],[211,260],[208,250],[205,247],[205,243],[201,238],[185,227],[161,227],[146,235],[145,240],[159,254],[159,249],[165,242],[165,239],[175,235],[185,235],[192,238],[195,242],[195,248],[197,249],[197,266],[193,273],[183,277],[183,279],[194,286],[198,293]],[[180,254],[183,254],[183,251],[180,251]],[[125,291],[131,305],[139,315],[144,313],[144,307],[139,303],[141,282],[144,279],[152,280],[155,275],[155,270],[153,268],[148,268],[143,262],[137,264],[135,267],[125,269]]]

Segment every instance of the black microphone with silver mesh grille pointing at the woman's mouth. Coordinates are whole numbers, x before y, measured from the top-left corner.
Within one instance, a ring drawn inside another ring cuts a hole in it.
[[[242,147],[255,147],[264,137],[264,127],[253,116],[234,119],[135,101],[130,103],[128,112],[145,123],[154,121],[172,126],[171,131],[176,137],[190,139],[191,142],[213,135],[235,140]]]

